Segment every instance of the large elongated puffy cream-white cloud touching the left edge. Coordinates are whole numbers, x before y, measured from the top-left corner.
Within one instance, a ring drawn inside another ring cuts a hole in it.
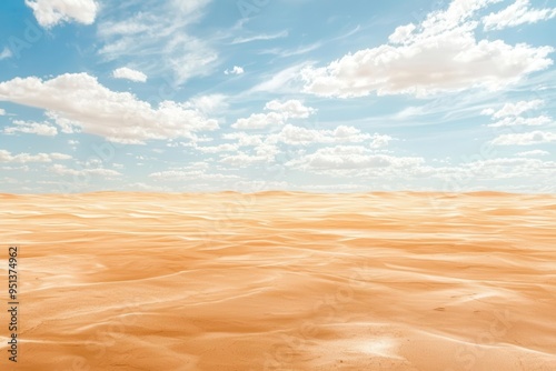
[[[48,110],[48,116],[72,132],[79,128],[121,143],[149,139],[191,138],[218,129],[218,122],[190,103],[163,101],[157,108],[129,92],[115,92],[87,73],[66,73],[51,80],[16,78],[0,83],[0,100]]]

